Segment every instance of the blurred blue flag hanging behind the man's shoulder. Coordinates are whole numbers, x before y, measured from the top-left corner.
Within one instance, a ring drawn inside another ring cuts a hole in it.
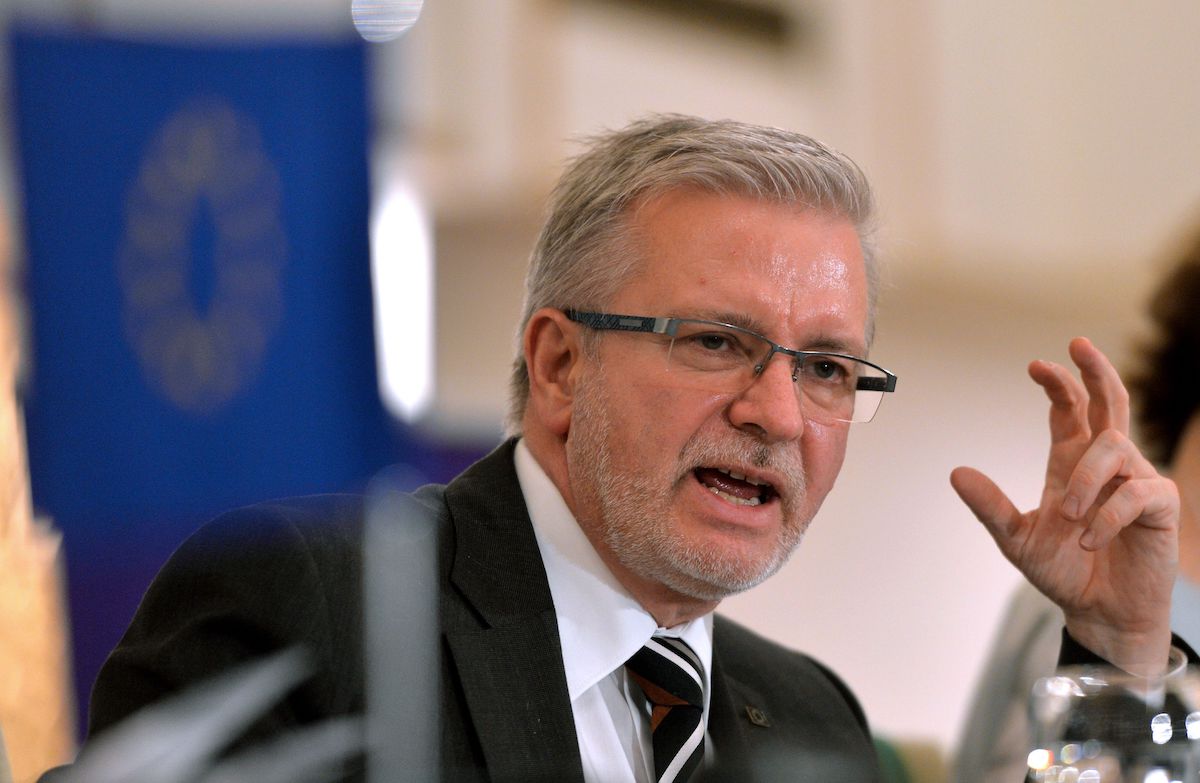
[[[86,694],[197,525],[358,489],[379,402],[361,42],[17,29],[34,503],[64,531]]]

